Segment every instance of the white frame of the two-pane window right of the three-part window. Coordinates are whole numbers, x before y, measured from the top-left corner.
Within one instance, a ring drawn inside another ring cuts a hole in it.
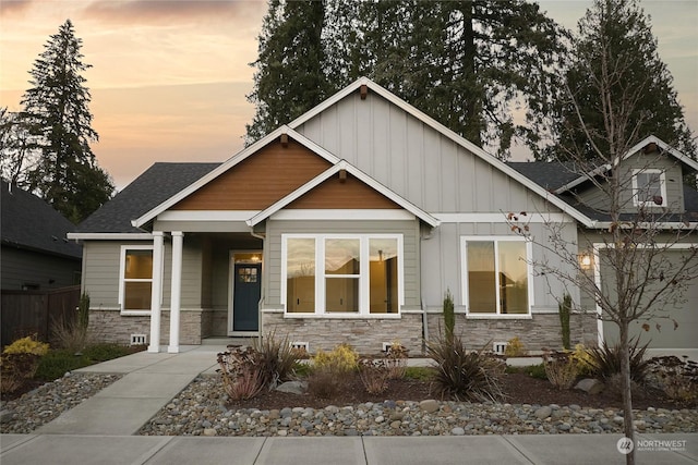
[[[498,260],[498,243],[500,242],[525,242],[526,243],[526,270],[528,274],[527,280],[527,292],[528,292],[528,313],[526,314],[502,314],[502,309],[500,308],[500,285],[497,281],[497,285],[495,286],[495,302],[496,302],[496,311],[494,314],[484,314],[479,311],[470,311],[470,299],[469,299],[469,289],[468,289],[468,242],[493,242],[494,243],[494,265],[495,265],[495,277],[498,280],[498,270],[500,270],[500,260]],[[533,244],[530,241],[526,241],[525,237],[517,236],[505,236],[505,235],[467,235],[460,236],[460,266],[461,266],[461,286],[462,286],[462,305],[466,307],[466,317],[467,318],[482,318],[482,319],[491,319],[491,318],[501,318],[501,319],[530,319],[531,318],[531,309],[533,308],[533,264],[531,262],[531,257],[533,256]]]

